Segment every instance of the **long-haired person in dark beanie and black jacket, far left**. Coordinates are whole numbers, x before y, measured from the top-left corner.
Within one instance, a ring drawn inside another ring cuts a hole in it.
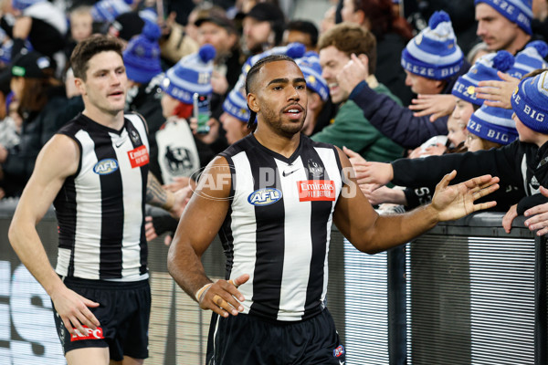
[[[68,101],[65,88],[54,78],[53,63],[37,52],[17,56],[11,67],[11,89],[23,123],[21,141],[0,161],[2,184],[18,196],[34,169],[38,152],[53,134],[81,110],[81,101]]]

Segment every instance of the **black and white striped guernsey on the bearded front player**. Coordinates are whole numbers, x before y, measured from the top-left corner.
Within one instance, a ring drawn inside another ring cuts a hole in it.
[[[317,315],[327,292],[332,213],[342,188],[337,151],[301,136],[288,159],[251,134],[220,155],[233,172],[219,236],[227,278],[251,276],[238,288],[246,297],[244,313],[281,321]]]

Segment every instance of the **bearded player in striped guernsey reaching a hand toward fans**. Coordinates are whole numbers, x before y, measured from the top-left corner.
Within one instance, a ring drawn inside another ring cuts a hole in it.
[[[498,188],[485,175],[438,184],[431,204],[382,216],[357,189],[338,148],[300,133],[306,82],[295,62],[265,57],[249,70],[249,125],[257,130],[211,162],[188,203],[168,255],[175,281],[215,312],[207,364],[336,364],[344,348],[325,307],[331,224],[360,251],[401,245]],[[199,227],[199,229],[195,229]],[[215,235],[227,254],[227,280],[212,282],[200,262]]]

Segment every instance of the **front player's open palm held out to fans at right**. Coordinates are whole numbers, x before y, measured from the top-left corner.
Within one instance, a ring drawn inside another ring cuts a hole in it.
[[[438,220],[451,221],[465,215],[495,206],[496,202],[474,204],[479,198],[499,189],[499,178],[491,175],[478,176],[463,183],[449,185],[457,176],[453,170],[437,183],[432,197],[432,207],[436,209]]]

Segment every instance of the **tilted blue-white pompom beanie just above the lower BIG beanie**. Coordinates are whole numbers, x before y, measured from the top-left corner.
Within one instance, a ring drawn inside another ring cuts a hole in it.
[[[476,93],[479,81],[500,81],[497,71],[506,72],[513,64],[514,57],[504,50],[479,57],[466,74],[458,77],[451,93],[472,104],[482,105],[483,99],[478,99]]]

